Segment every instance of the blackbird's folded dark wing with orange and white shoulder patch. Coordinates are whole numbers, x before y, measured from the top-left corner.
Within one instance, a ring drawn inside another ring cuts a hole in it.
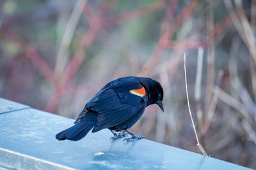
[[[145,108],[147,100],[147,92],[140,81],[122,80],[99,92],[86,108],[98,113],[96,126],[99,131],[125,122]]]

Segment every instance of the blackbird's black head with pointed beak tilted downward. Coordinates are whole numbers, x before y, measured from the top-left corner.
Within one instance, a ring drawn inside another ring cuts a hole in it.
[[[143,78],[142,81],[143,85],[146,87],[149,95],[149,103],[150,104],[157,104],[161,110],[164,111],[163,107],[163,97],[164,91],[160,83],[156,80],[152,80],[151,78]]]

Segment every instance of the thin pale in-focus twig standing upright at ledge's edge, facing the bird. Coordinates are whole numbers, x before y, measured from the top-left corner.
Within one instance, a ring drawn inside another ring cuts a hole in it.
[[[198,139],[198,136],[197,136],[197,133],[196,133],[195,124],[194,124],[193,117],[192,117],[191,110],[190,110],[190,106],[189,106],[188,85],[187,85],[188,83],[187,83],[187,74],[186,74],[186,53],[184,53],[184,72],[185,72],[186,95],[187,95],[187,100],[188,100],[188,110],[189,110],[189,115],[190,115],[190,118],[191,118],[191,122],[192,122],[192,125],[193,125],[195,136],[196,136],[196,141],[197,141],[196,145],[198,146],[198,148],[201,150],[201,152],[205,156],[208,156],[207,153],[205,152],[203,146],[199,143],[199,139]]]

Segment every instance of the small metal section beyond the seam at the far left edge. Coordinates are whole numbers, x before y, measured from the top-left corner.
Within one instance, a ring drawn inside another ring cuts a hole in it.
[[[26,108],[29,108],[29,106],[0,98],[0,114],[8,113],[10,111],[23,110]]]

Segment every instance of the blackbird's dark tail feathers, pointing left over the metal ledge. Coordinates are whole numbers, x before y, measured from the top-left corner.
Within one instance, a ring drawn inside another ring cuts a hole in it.
[[[58,140],[71,140],[78,141],[82,139],[86,134],[95,127],[97,122],[97,115],[95,113],[87,113],[81,122],[78,124],[56,134]]]

